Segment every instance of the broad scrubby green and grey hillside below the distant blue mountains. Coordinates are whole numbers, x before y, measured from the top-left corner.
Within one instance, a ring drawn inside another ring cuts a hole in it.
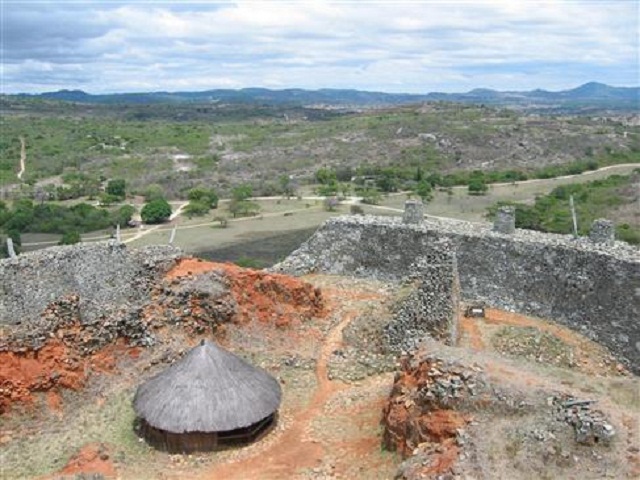
[[[447,103],[349,113],[11,102],[1,119],[0,179],[17,183],[23,137],[24,179],[44,181],[39,187],[76,172],[125,178],[134,193],[159,184],[177,197],[198,183],[225,190],[251,182],[268,195],[281,174],[302,184],[321,166],[530,170],[577,160],[633,162],[640,151],[640,127],[624,116],[540,117]]]

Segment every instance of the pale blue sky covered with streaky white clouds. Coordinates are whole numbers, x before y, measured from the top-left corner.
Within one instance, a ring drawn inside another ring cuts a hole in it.
[[[639,0],[0,0],[0,93],[638,86]]]

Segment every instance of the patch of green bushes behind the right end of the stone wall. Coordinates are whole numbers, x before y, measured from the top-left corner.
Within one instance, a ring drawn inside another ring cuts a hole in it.
[[[571,233],[573,221],[569,198],[573,196],[578,218],[578,233],[589,232],[591,223],[602,217],[611,217],[611,212],[637,202],[635,185],[640,182],[640,169],[632,175],[611,175],[603,180],[582,184],[562,185],[550,194],[536,198],[533,205],[499,202],[489,209],[492,218],[501,205],[513,205],[516,208],[516,227],[553,233]],[[632,244],[640,244],[640,222],[619,223],[616,233],[619,239]],[[633,215],[633,213],[631,214]]]

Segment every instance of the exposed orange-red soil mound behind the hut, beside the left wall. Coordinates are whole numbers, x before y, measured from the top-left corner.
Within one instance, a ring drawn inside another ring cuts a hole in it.
[[[222,271],[238,304],[237,320],[258,320],[279,327],[295,326],[305,318],[325,315],[319,289],[286,275],[245,269],[228,263],[183,258],[165,279],[173,280],[210,271]]]

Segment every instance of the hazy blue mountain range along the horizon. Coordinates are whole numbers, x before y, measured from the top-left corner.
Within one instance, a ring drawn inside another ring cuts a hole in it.
[[[585,83],[571,90],[551,92],[547,90],[501,92],[478,88],[467,93],[397,94],[361,90],[298,88],[270,90],[243,88],[239,90],[216,89],[202,92],[148,92],[92,95],[82,90],[60,90],[36,95],[20,94],[19,97],[62,100],[100,104],[149,104],[149,103],[260,103],[289,105],[333,106],[381,106],[418,102],[462,102],[493,106],[515,106],[525,109],[613,109],[640,110],[640,87],[612,87],[603,83]]]

